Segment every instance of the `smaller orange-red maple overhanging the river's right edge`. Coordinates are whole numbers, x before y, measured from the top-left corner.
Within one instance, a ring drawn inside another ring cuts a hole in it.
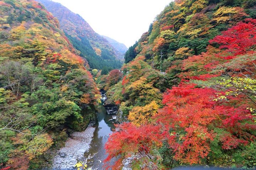
[[[131,123],[123,123],[119,125],[120,131],[114,133],[108,139],[105,148],[108,152],[108,157],[105,161],[118,155],[123,155],[119,160],[122,160],[130,152],[139,153],[143,156],[149,154],[153,145],[161,145],[161,135],[159,127],[156,126],[140,126],[137,127]],[[115,146],[115,147],[114,147]],[[115,169],[121,168],[122,161],[115,162]]]

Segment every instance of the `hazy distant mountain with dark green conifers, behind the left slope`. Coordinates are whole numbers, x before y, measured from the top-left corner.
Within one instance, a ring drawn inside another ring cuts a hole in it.
[[[97,34],[81,16],[58,2],[51,0],[38,0],[38,2],[58,18],[60,28],[64,30],[74,47],[81,52],[80,55],[86,58],[91,68],[121,67],[123,53]]]

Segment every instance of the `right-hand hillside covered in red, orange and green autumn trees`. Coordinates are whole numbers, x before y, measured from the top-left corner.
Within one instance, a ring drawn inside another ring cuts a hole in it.
[[[97,79],[127,121],[110,136],[106,161],[253,169],[255,60],[254,0],[171,2],[126,52],[121,80]]]

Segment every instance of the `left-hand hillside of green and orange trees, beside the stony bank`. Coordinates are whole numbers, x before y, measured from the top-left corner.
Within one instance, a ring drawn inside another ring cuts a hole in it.
[[[42,168],[67,128],[95,119],[100,93],[88,69],[41,4],[0,1],[0,168]]]

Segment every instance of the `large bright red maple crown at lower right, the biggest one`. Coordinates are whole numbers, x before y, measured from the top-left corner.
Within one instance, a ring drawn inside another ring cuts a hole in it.
[[[245,107],[216,103],[213,101],[216,91],[194,86],[181,84],[167,91],[163,99],[166,106],[157,115],[158,121],[173,131],[168,142],[176,152],[175,159],[189,164],[201,163],[211,151],[210,141],[217,136],[214,128],[225,131],[218,134],[223,149],[233,149],[255,139],[254,134],[247,132],[254,131],[256,126]],[[180,132],[184,133],[182,138]]]

